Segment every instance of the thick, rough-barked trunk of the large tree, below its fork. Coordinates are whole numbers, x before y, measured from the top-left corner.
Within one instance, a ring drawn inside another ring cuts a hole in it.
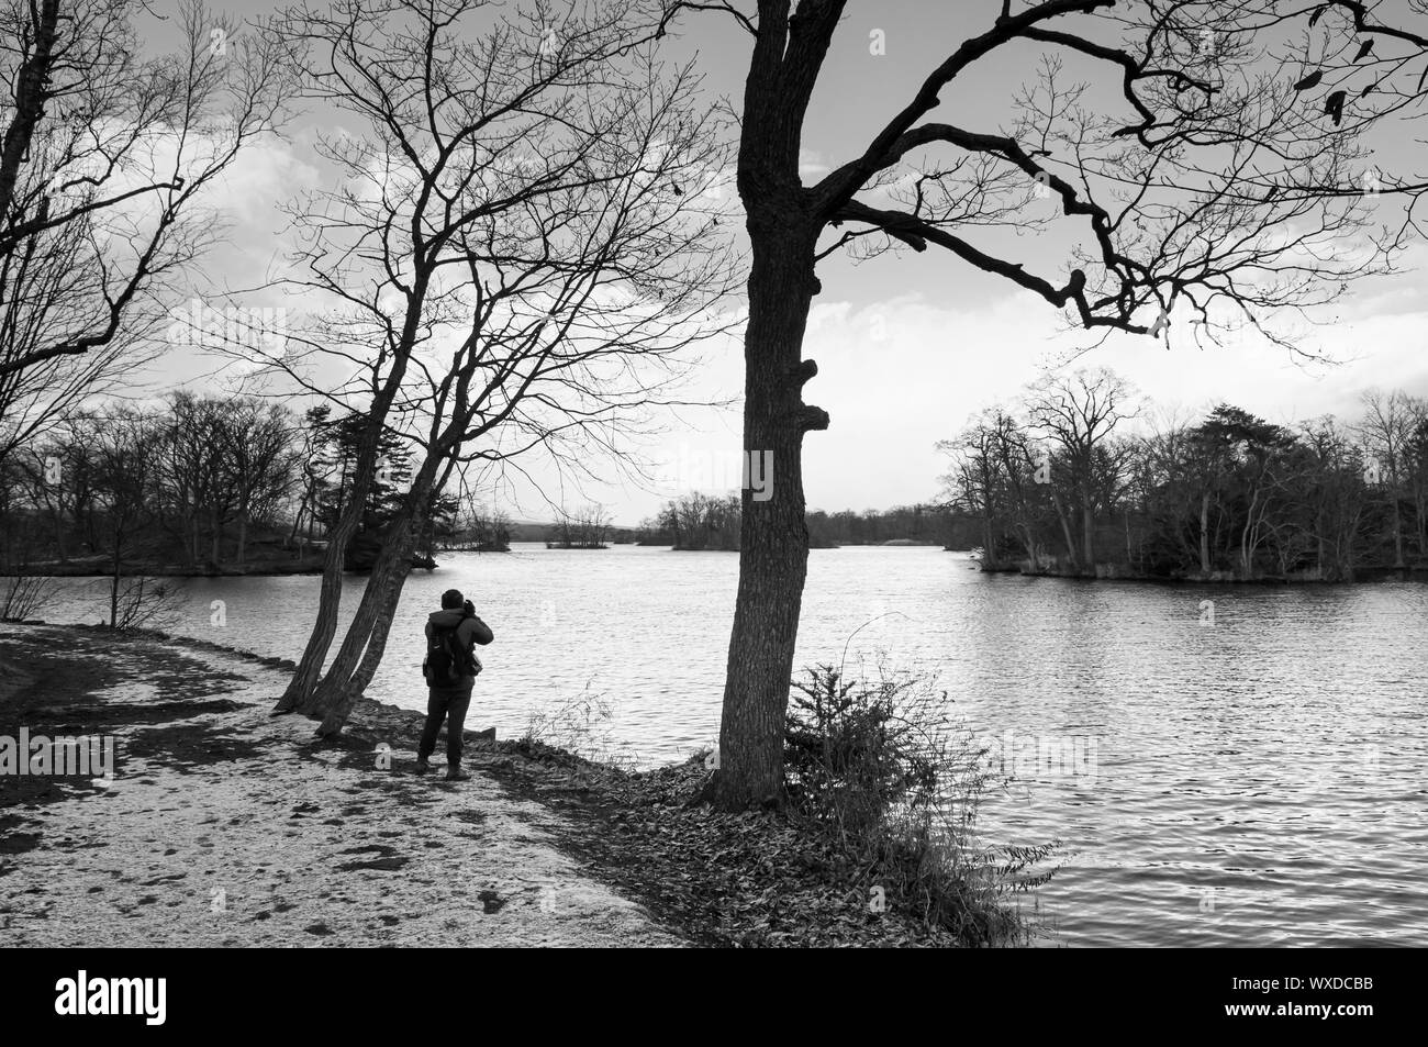
[[[768,201],[768,194],[763,194]],[[750,216],[754,257],[744,333],[744,451],[773,451],[773,476],[755,500],[743,491],[738,601],[728,646],[714,800],[727,810],[783,794],[784,714],[793,680],[798,613],[808,570],[803,437],[828,416],[803,401],[817,373],[801,360],[808,309],[818,289],[815,231],[777,204]]]

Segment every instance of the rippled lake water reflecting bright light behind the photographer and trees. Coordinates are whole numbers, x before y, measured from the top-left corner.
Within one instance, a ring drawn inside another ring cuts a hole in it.
[[[510,737],[588,687],[641,764],[678,760],[718,734],[735,583],[725,553],[447,554],[407,583],[368,693],[424,706],[421,624],[457,587],[496,631],[468,726]],[[317,584],[194,578],[174,630],[296,658]],[[94,621],[101,591],[73,583],[44,617]],[[1051,944],[1428,946],[1428,587],[1082,583],[840,548],[811,554],[803,623],[800,664],[937,673],[997,743],[1020,780],[982,836],[1061,841],[1027,898]]]

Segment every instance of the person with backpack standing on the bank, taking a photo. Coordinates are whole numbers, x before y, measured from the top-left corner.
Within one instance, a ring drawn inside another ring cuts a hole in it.
[[[496,638],[490,626],[476,616],[476,607],[448,588],[441,594],[441,610],[427,618],[427,657],[421,674],[427,678],[427,724],[417,746],[417,774],[431,770],[428,763],[437,748],[441,723],[447,726],[447,781],[466,781],[471,776],[461,770],[461,731],[466,711],[471,706],[471,688],[481,660],[476,644],[483,647]]]

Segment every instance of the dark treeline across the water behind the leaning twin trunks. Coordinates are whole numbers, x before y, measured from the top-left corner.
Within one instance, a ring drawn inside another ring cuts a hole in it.
[[[254,397],[176,393],[157,406],[80,411],[0,460],[0,570],[296,570],[317,563],[351,499],[360,419]],[[366,570],[410,486],[384,436],[347,550]],[[437,547],[504,548],[510,521],[434,496],[417,563]]]

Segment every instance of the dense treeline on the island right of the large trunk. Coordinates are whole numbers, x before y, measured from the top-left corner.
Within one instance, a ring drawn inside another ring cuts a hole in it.
[[[1428,567],[1428,403],[1281,426],[1231,404],[1148,413],[1112,373],[1055,376],[955,440],[948,497],[984,567],[1165,578],[1351,580]]]

